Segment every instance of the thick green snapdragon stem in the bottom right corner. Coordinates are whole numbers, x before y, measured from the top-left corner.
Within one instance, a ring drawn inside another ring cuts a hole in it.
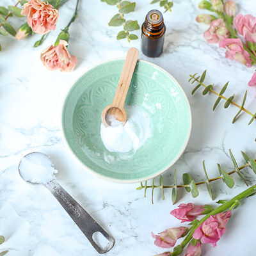
[[[207,220],[211,215],[216,215],[220,212],[226,211],[228,209],[230,209],[230,207],[232,207],[232,205],[237,204],[238,201],[246,198],[247,196],[252,195],[253,193],[256,192],[256,185],[253,185],[251,188],[246,189],[245,191],[243,191],[242,193],[240,193],[239,195],[235,196],[234,198],[232,198],[231,200],[229,200],[228,202],[226,202],[223,205],[220,205],[219,207],[217,207],[216,209],[214,209],[213,211],[209,212],[209,214],[205,215],[204,218],[202,218],[202,220],[200,220],[195,227],[193,227],[193,229],[191,229],[191,231],[189,232],[189,234],[185,237],[185,239],[182,241],[182,243],[180,243],[180,246],[182,248],[182,251],[184,250],[185,246],[189,243],[189,241],[193,238],[193,234],[196,230],[196,228],[198,228],[205,220]],[[173,252],[172,256],[177,256],[180,255],[181,252]]]

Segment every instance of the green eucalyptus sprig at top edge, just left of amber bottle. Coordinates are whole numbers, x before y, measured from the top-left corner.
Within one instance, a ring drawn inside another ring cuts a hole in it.
[[[138,24],[137,20],[125,20],[124,14],[130,13],[134,11],[134,8],[136,6],[136,3],[131,3],[129,1],[121,1],[121,0],[100,0],[102,2],[105,2],[109,5],[116,5],[118,8],[118,13],[112,17],[112,19],[109,21],[109,26],[123,26],[124,30],[120,31],[116,39],[124,39],[127,38],[128,42],[131,40],[138,39],[138,36],[135,34],[130,34],[129,32],[134,31],[136,29],[140,29],[140,26]]]

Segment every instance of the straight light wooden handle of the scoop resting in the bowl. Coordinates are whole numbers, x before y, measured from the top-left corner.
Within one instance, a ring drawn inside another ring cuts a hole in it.
[[[122,74],[120,76],[118,86],[116,88],[115,97],[113,99],[113,107],[119,109],[124,108],[124,102],[127,96],[127,92],[129,90],[132,74],[134,72],[138,56],[139,51],[136,48],[130,48],[129,51],[127,52]]]

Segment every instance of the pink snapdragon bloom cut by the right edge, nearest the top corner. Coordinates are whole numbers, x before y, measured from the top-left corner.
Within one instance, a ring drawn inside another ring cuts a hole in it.
[[[256,42],[256,18],[252,15],[237,15],[234,25],[238,33],[244,36],[244,40]]]

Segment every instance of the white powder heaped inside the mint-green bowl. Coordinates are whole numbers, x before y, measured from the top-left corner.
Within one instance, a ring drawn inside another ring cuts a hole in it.
[[[127,122],[125,125],[109,116],[111,126],[100,126],[100,138],[109,152],[134,154],[148,138],[151,137],[150,119],[147,113],[138,106],[127,106]]]

